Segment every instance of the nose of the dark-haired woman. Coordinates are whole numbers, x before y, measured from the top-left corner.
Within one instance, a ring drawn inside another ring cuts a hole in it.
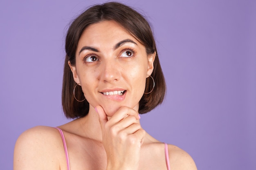
[[[101,80],[104,82],[115,82],[121,77],[121,70],[119,65],[113,61],[108,60],[101,63]]]

